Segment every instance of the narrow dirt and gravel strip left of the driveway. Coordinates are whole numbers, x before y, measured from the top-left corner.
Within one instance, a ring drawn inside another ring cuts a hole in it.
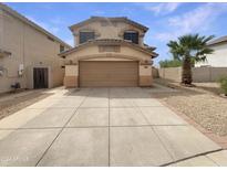
[[[16,96],[17,95],[17,96]],[[21,92],[21,94],[10,94],[8,98],[0,97],[0,119],[17,113],[52,94],[42,91]],[[4,95],[6,97],[6,95]]]

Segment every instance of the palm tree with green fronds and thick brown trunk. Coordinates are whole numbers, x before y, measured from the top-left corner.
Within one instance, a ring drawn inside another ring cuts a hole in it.
[[[199,36],[199,34],[186,34],[179,36],[177,41],[169,41],[167,46],[175,60],[183,62],[182,84],[190,85],[193,82],[192,66],[195,62],[205,62],[206,55],[213,50],[207,46],[214,35]]]

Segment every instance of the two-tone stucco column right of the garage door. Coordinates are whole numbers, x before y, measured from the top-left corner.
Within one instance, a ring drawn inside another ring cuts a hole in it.
[[[151,63],[140,63],[140,86],[151,86],[152,78],[152,64]]]

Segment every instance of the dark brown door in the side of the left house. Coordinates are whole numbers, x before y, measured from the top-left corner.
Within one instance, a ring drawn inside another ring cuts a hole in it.
[[[48,88],[48,68],[34,67],[33,68],[33,87]]]

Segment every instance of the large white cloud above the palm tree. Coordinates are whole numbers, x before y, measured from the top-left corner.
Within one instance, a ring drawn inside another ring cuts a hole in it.
[[[197,33],[211,30],[217,18],[227,13],[227,3],[206,3],[182,15],[167,19],[167,32],[155,35],[161,41],[176,39],[187,33]]]

